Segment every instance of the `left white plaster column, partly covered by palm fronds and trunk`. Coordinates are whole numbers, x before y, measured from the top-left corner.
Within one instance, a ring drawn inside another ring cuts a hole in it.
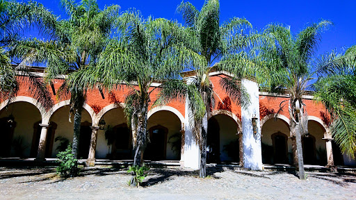
[[[187,84],[190,84],[192,79],[187,80]],[[200,167],[200,149],[199,145],[195,141],[191,124],[189,124],[189,113],[192,110],[189,107],[189,99],[186,97],[185,103],[185,122],[184,122],[184,167],[191,169],[199,169]]]

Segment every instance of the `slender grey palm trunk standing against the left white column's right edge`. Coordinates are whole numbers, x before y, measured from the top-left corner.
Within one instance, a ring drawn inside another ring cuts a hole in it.
[[[205,114],[202,120],[202,148],[200,149],[200,178],[207,176],[207,136],[208,136],[208,115]]]

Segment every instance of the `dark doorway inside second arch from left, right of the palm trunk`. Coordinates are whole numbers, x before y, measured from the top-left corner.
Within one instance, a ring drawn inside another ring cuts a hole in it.
[[[92,137],[92,128],[90,128],[91,125],[92,124],[90,122],[81,123],[78,158],[88,158],[90,139]]]

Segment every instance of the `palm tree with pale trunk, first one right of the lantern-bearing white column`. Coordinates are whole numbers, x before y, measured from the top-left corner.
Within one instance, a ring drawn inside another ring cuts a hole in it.
[[[308,133],[303,95],[307,94],[309,81],[321,70],[313,66],[313,58],[320,34],[330,24],[326,20],[310,24],[298,35],[292,35],[289,26],[270,24],[264,31],[266,41],[259,47],[261,70],[268,72],[270,77],[266,86],[272,91],[289,94],[289,100],[281,102],[280,110],[288,105],[290,135],[295,138],[294,162],[299,167],[300,179],[305,178],[301,136]]]

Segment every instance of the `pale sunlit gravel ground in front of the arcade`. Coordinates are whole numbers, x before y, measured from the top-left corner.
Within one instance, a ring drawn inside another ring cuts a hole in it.
[[[127,185],[125,169],[84,169],[60,178],[54,168],[0,167],[0,199],[356,199],[356,175],[208,169],[151,169],[143,187]]]

